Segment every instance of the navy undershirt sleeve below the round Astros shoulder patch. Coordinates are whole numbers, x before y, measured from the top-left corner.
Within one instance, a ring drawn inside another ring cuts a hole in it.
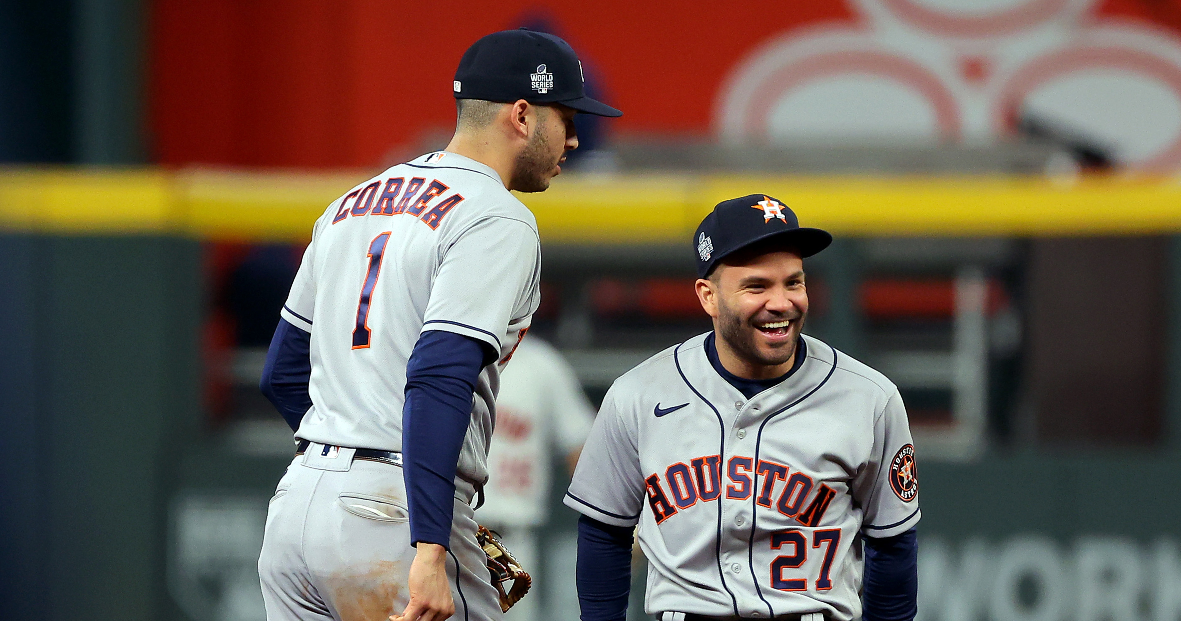
[[[864,621],[911,621],[918,613],[919,536],[915,529],[893,537],[864,537]]]

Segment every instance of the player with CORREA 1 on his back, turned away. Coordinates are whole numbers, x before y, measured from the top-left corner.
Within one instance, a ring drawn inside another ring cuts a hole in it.
[[[539,303],[533,214],[578,148],[585,97],[561,39],[490,34],[459,61],[446,150],[328,205],[262,390],[295,431],[259,558],[267,619],[501,619],[472,504],[501,370]]]

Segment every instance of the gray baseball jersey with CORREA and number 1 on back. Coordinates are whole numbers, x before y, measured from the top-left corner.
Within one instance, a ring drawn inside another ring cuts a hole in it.
[[[501,352],[459,455],[459,476],[484,482],[498,373],[540,279],[536,221],[491,168],[438,151],[357,185],[315,222],[281,312],[312,334],[314,405],[295,436],[400,451],[410,353],[425,331],[455,332]]]

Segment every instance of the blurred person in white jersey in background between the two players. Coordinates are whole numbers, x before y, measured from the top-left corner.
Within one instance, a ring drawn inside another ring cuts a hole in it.
[[[487,502],[476,518],[498,531],[521,564],[534,571],[535,591],[536,570],[541,569],[539,529],[549,519],[554,451],[566,465],[559,482],[565,486],[593,423],[594,408],[566,359],[540,338],[523,339],[501,374],[496,432],[488,452]],[[546,575],[557,577],[552,570]],[[521,600],[505,619],[544,619],[539,614],[537,595]]]

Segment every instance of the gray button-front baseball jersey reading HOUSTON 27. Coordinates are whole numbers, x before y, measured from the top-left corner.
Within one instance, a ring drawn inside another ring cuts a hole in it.
[[[898,388],[803,336],[800,368],[748,400],[715,371],[705,338],[614,383],[566,504],[639,524],[650,614],[860,616],[860,537],[920,517]]]

